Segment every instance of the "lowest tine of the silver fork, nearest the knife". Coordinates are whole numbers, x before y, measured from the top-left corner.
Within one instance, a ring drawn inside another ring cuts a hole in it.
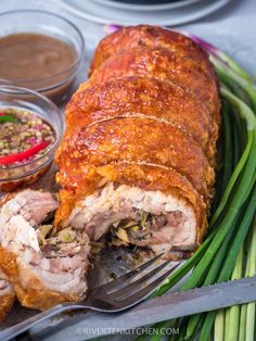
[[[176,264],[174,267],[171,267],[169,270],[167,270],[162,276],[157,277],[153,282],[151,282],[148,287],[144,287],[143,289],[137,291],[136,293],[127,296],[123,295],[117,299],[115,299],[115,302],[121,304],[125,307],[129,307],[141,300],[149,296],[157,287],[162,283],[179,265],[180,263]]]

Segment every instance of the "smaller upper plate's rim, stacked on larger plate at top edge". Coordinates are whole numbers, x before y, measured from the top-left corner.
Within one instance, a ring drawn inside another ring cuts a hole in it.
[[[124,3],[117,2],[113,0],[94,0],[94,2],[102,3],[114,9],[120,10],[131,10],[131,11],[163,11],[163,10],[172,10],[182,8],[184,5],[204,0],[181,0],[177,2],[169,2],[169,3],[161,3],[161,4],[136,4],[136,3]]]

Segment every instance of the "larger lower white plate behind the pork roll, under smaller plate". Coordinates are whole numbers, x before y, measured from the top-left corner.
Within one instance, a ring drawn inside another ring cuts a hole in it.
[[[204,17],[231,0],[204,0],[184,8],[154,12],[138,12],[110,8],[94,0],[59,0],[69,12],[98,24],[175,26]]]

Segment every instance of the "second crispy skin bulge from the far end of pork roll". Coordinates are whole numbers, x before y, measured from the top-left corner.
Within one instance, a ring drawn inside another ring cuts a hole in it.
[[[125,76],[144,76],[181,86],[196,96],[217,119],[219,96],[215,78],[193,60],[161,48],[139,47],[111,55],[82,87]],[[178,91],[177,91],[178,92]]]

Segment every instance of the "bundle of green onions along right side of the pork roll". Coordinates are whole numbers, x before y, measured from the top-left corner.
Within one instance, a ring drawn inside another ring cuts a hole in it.
[[[208,51],[220,80],[225,135],[220,184],[217,184],[218,195],[214,203],[216,210],[209,219],[208,236],[199,250],[164,281],[153,296],[167,292],[190,270],[192,274],[180,290],[256,274],[256,224],[252,226],[256,207],[255,80],[223,52],[197,37],[191,38]],[[245,239],[248,235],[252,235],[252,238],[244,274]],[[215,341],[253,341],[254,319],[255,302],[193,315],[172,321],[174,326],[182,329],[179,337],[175,336],[175,340],[194,340],[197,336],[200,341],[207,341],[214,330]],[[169,324],[163,321],[155,327],[161,330]],[[151,337],[151,341],[161,340],[162,337],[156,332]]]

